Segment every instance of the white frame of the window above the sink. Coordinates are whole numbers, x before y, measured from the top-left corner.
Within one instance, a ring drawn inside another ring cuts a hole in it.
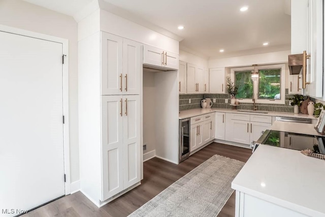
[[[258,84],[259,78],[256,81],[253,81],[253,96],[255,98],[255,103],[267,103],[267,104],[285,104],[285,64],[272,64],[272,65],[264,65],[264,66],[256,66],[256,70],[263,70],[263,69],[281,69],[280,72],[280,100],[274,99],[261,99],[258,98]],[[237,71],[247,71],[247,70],[254,70],[254,67],[237,67],[231,68],[230,70],[230,77],[232,81],[235,81],[235,72]],[[237,99],[237,98],[236,98]],[[252,103],[252,99],[238,99],[239,102],[242,103]]]

